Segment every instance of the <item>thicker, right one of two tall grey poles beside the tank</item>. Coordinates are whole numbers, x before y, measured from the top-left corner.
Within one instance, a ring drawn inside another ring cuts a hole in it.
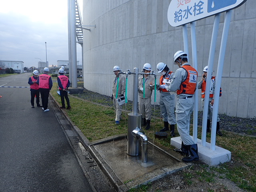
[[[76,60],[76,0],[70,0],[72,87],[77,88]]]

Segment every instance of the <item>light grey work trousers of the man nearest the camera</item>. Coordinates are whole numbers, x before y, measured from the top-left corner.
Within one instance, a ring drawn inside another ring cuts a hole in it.
[[[189,134],[189,128],[190,115],[194,108],[194,98],[178,98],[176,102],[177,130],[184,145],[193,145],[195,143]]]

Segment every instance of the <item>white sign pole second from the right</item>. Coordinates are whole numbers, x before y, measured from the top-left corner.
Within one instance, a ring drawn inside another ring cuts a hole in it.
[[[212,40],[210,45],[210,53],[208,59],[208,70],[206,78],[206,90],[204,93],[204,110],[203,110],[203,122],[202,122],[202,146],[206,146],[206,125],[207,125],[207,116],[208,116],[208,103],[210,96],[210,83],[212,78],[212,68],[214,64],[214,53],[216,49],[216,42],[218,37],[218,28],[220,23],[220,14],[215,15],[213,30],[212,30]]]

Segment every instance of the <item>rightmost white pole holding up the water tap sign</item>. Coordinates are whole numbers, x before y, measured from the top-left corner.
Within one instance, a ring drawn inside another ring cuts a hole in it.
[[[216,125],[217,125],[217,116],[218,116],[218,107],[219,107],[219,95],[220,95],[220,84],[221,84],[221,77],[224,65],[224,58],[226,52],[226,45],[228,40],[228,30],[230,26],[230,19],[231,19],[232,10],[226,12],[222,39],[220,44],[220,55],[218,60],[218,69],[217,69],[217,76],[216,76],[216,84],[215,84],[215,91],[214,91],[214,106],[212,112],[212,132],[211,132],[211,150],[215,150],[216,146]]]

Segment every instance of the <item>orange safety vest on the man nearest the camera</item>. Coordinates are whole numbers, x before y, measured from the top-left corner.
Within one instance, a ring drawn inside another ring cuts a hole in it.
[[[197,71],[190,65],[182,66],[187,72],[187,77],[184,82],[180,84],[180,89],[177,90],[177,95],[188,94],[193,95],[196,91],[196,82],[197,82]]]

